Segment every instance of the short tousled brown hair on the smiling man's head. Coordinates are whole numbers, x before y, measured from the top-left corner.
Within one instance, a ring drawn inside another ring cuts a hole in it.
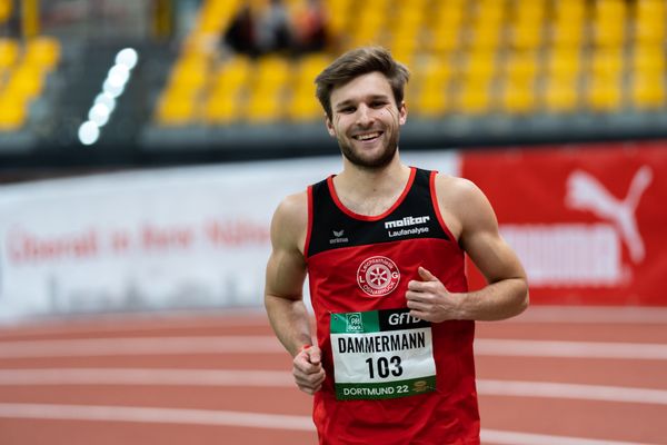
[[[405,65],[396,61],[387,49],[361,47],[340,56],[315,79],[317,86],[315,93],[329,119],[331,119],[331,91],[334,88],[375,71],[387,78],[394,91],[396,105],[400,107],[410,71]]]

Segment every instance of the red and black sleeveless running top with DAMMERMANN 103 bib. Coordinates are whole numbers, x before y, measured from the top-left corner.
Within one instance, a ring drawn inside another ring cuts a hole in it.
[[[313,400],[320,444],[479,444],[474,322],[414,318],[405,297],[419,266],[467,290],[435,178],[411,168],[394,206],[371,217],[342,205],[332,176],[308,187],[305,251],[327,373]]]

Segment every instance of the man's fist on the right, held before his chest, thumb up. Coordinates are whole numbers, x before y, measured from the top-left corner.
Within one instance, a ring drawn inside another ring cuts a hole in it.
[[[410,315],[427,322],[440,323],[458,319],[459,294],[450,294],[442,281],[424,267],[419,267],[421,281],[408,283],[406,299]]]

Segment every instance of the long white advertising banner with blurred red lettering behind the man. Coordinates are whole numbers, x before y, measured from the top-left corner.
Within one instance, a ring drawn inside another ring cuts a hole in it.
[[[451,152],[404,159],[458,170]],[[339,170],[330,157],[0,187],[0,320],[260,306],[278,202]]]

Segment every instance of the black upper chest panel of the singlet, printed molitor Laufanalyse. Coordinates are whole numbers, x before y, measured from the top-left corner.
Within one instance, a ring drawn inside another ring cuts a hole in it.
[[[337,248],[404,239],[449,239],[434,209],[429,178],[430,171],[417,169],[402,202],[385,218],[374,221],[354,218],[338,208],[326,179],[315,184],[308,256]]]

